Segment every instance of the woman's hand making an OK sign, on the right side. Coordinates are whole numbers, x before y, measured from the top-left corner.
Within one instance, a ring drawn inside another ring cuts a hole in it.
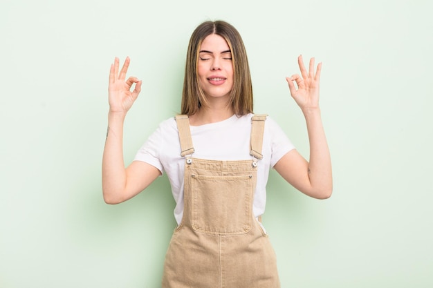
[[[292,75],[292,77],[286,77],[286,80],[293,99],[295,99],[297,105],[300,106],[302,112],[305,113],[309,110],[319,108],[319,82],[322,63],[317,65],[317,70],[315,71],[314,58],[311,58],[307,72],[304,61],[302,60],[302,55],[297,57],[297,62],[300,66],[301,76],[295,74]],[[297,88],[293,81],[296,82]]]

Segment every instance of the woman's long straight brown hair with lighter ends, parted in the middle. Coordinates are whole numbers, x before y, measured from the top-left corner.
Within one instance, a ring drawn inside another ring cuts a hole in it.
[[[245,46],[239,32],[225,21],[205,21],[192,32],[187,50],[181,114],[193,115],[206,105],[203,90],[197,76],[197,61],[201,43],[208,35],[216,34],[225,39],[232,52],[233,88],[230,103],[236,115],[252,113],[252,84]]]

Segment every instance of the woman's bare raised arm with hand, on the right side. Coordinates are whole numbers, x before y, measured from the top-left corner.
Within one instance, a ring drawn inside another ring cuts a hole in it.
[[[275,170],[296,189],[317,199],[331,197],[332,169],[331,156],[326,142],[319,107],[319,83],[322,63],[314,69],[314,58],[310,59],[308,71],[298,57],[301,75],[287,77],[288,88],[293,99],[300,106],[306,120],[310,143],[310,161],[307,162],[295,149],[286,153],[275,164]],[[296,86],[293,83],[296,82]]]

